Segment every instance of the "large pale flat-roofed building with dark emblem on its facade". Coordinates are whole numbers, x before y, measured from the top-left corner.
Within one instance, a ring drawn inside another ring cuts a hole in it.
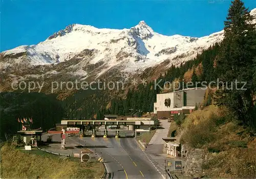
[[[154,114],[157,118],[166,117],[173,119],[174,114],[190,114],[201,104],[205,95],[205,88],[188,88],[174,92],[157,94],[154,103]]]

